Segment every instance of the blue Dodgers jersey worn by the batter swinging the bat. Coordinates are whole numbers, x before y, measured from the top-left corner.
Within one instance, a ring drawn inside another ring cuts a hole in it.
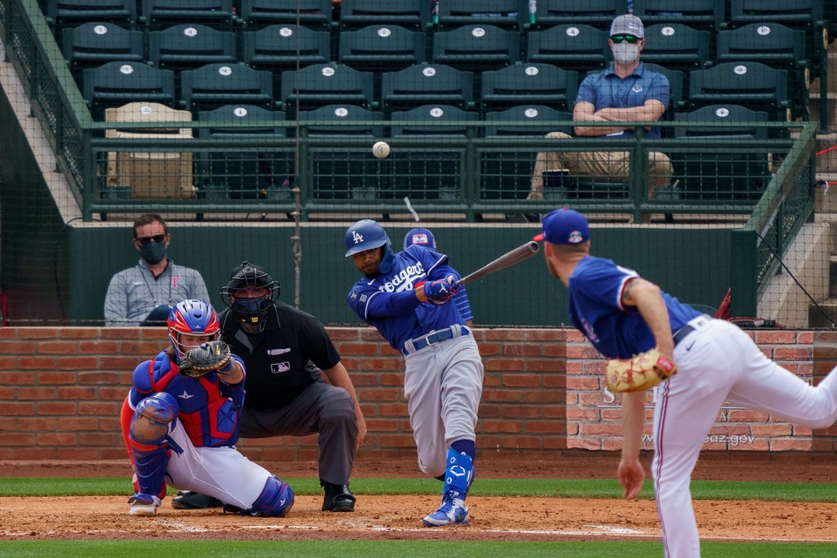
[[[363,276],[352,287],[347,302],[357,316],[374,326],[393,349],[401,351],[404,343],[434,330],[451,325],[465,325],[452,301],[434,305],[421,302],[413,292],[425,280],[434,281],[458,274],[444,253],[431,252],[413,244],[394,255],[388,274],[374,278]]]

